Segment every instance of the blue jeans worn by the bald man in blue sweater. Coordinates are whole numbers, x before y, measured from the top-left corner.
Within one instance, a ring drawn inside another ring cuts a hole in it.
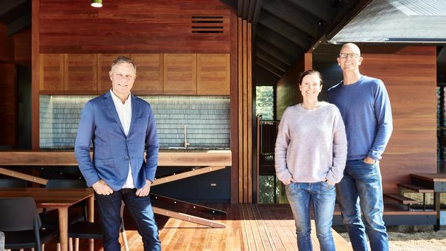
[[[344,177],[336,188],[342,223],[347,228],[353,250],[368,250],[366,233],[372,251],[389,250],[383,221],[383,188],[379,162],[367,164],[362,160],[348,160]]]

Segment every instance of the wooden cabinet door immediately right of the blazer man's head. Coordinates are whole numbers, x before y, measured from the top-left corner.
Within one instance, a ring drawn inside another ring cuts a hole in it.
[[[163,54],[131,54],[136,64],[133,94],[163,94]]]

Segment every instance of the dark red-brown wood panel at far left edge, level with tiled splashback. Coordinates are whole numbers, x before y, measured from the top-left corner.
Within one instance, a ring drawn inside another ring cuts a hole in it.
[[[0,63],[0,145],[14,148],[17,138],[16,68],[14,63]]]

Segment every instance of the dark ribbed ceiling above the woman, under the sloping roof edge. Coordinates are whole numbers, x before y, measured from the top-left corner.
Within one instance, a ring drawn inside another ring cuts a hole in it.
[[[221,0],[252,23],[256,84],[274,84],[371,0]]]

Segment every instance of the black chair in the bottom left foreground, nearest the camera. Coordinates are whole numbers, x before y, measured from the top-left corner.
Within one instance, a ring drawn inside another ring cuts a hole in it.
[[[57,230],[42,230],[36,202],[31,197],[0,199],[0,231],[5,234],[5,249],[34,248],[57,236]]]

